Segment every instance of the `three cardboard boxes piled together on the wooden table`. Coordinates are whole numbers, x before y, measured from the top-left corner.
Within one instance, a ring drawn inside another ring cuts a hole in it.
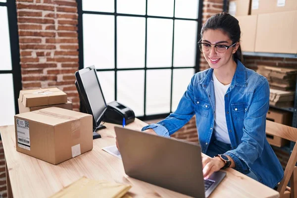
[[[22,90],[14,116],[16,150],[52,164],[93,148],[92,115],[72,111],[57,88]]]

